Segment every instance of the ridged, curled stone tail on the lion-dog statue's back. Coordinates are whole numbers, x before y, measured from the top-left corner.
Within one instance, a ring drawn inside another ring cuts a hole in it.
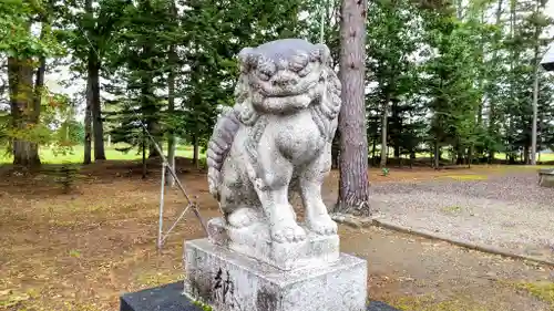
[[[225,107],[214,126],[207,148],[208,187],[209,193],[219,198],[222,167],[230,151],[233,141],[239,127],[239,121],[234,108]]]

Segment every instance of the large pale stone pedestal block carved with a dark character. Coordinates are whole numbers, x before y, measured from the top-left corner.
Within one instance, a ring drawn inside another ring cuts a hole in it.
[[[283,271],[207,239],[185,245],[184,292],[216,311],[366,310],[367,262],[341,253],[332,265]]]

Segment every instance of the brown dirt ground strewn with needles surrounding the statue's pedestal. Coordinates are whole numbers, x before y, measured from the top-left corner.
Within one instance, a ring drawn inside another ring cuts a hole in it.
[[[157,170],[153,170],[157,172]],[[456,170],[502,174],[501,167]],[[183,278],[183,239],[204,236],[188,212],[160,253],[155,249],[158,175],[142,180],[132,164],[104,163],[80,170],[70,194],[54,177],[0,178],[0,310],[117,310],[123,292]],[[371,183],[425,180],[452,172],[370,170]],[[335,190],[334,172],[326,191]],[[181,180],[205,219],[218,216],[205,174],[183,169]],[[185,206],[166,191],[165,222]],[[402,310],[554,310],[554,270],[368,228],[340,228],[341,248],[367,258],[371,299]]]

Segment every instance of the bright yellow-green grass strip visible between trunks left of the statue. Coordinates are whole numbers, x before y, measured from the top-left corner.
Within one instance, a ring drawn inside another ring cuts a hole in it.
[[[52,148],[42,147],[40,149],[40,160],[43,164],[79,164],[83,162],[84,147],[83,146],[74,146],[71,152],[65,154],[61,154]],[[192,146],[179,146],[176,151],[176,156],[179,157],[193,157],[193,147]],[[136,149],[130,151],[129,153],[123,153],[116,151],[114,147],[105,148],[105,157],[109,160],[134,160],[141,159],[142,154],[137,153]],[[201,153],[201,158],[205,157],[205,154]],[[94,159],[94,152],[92,154],[92,158]],[[13,157],[11,155],[7,155],[6,153],[0,154],[0,164],[11,164]]]

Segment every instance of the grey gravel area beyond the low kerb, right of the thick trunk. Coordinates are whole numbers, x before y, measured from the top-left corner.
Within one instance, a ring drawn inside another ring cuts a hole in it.
[[[370,206],[386,224],[554,262],[554,188],[537,179],[526,169],[373,184]]]

